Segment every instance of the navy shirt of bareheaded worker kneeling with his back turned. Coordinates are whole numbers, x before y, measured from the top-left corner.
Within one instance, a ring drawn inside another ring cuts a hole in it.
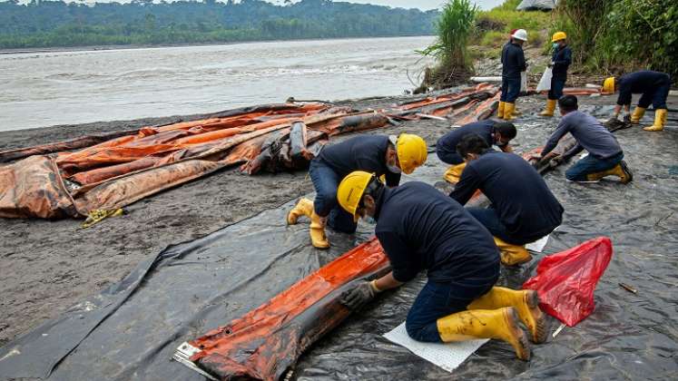
[[[514,153],[487,150],[461,174],[449,196],[464,205],[481,190],[492,202],[506,231],[516,238],[539,239],[563,220],[563,206],[544,179]]]

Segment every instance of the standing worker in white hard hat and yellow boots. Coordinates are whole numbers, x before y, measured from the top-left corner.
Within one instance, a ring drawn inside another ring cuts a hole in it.
[[[504,45],[501,52],[501,98],[497,115],[506,121],[513,119],[516,99],[520,93],[520,73],[527,70],[523,44],[527,41],[525,29],[518,29],[511,35],[511,41]]]

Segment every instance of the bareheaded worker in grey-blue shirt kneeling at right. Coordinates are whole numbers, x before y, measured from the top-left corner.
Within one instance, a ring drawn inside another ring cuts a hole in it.
[[[565,171],[565,178],[569,181],[599,181],[605,176],[619,177],[622,183],[634,179],[624,159],[624,151],[603,124],[593,116],[578,111],[575,95],[565,95],[558,100],[558,107],[563,119],[560,120],[555,132],[551,135],[537,160],[550,159],[566,161],[577,153],[586,150],[588,155],[577,161],[575,165]],[[577,144],[570,151],[558,157],[552,150],[558,141],[569,132],[575,137]]]

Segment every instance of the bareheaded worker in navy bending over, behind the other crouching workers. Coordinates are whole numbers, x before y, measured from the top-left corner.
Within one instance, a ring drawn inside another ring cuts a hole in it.
[[[488,146],[496,145],[501,151],[513,151],[509,142],[516,137],[516,126],[510,122],[495,122],[488,119],[486,121],[468,123],[451,132],[447,132],[438,139],[436,153],[441,161],[451,165],[443,175],[443,178],[449,182],[458,182],[461,172],[464,171],[467,165],[464,158],[457,153],[457,144],[469,133],[480,135]]]

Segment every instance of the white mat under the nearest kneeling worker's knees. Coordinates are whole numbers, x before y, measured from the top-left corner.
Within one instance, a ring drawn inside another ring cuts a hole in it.
[[[488,341],[486,338],[481,338],[446,344],[422,343],[409,337],[408,332],[405,330],[404,322],[398,327],[393,328],[392,331],[385,333],[384,337],[402,347],[408,348],[418,357],[422,357],[442,367],[447,372],[455,370],[457,366],[460,366],[464,360],[473,355],[479,347]]]

